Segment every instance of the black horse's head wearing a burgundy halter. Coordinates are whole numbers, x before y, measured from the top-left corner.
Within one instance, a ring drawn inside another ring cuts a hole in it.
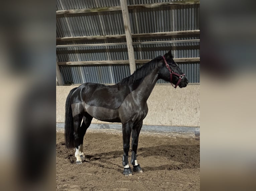
[[[159,70],[159,78],[163,79],[167,82],[171,82],[175,85],[175,88],[179,86],[180,88],[184,88],[188,84],[187,77],[180,70],[179,66],[173,60],[171,55],[171,51],[166,53],[163,57],[161,57],[161,61],[158,63]]]

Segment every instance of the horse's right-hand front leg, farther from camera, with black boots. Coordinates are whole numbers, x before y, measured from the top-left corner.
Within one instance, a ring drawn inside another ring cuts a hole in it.
[[[142,168],[137,163],[137,148],[138,148],[138,140],[139,134],[142,127],[142,120],[133,125],[132,128],[132,157],[131,164],[133,165],[133,172],[142,173]]]

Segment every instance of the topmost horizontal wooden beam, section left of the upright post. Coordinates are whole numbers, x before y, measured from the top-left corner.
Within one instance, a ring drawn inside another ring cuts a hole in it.
[[[102,11],[117,11],[117,10],[121,10],[121,6],[58,10],[58,11],[56,11],[56,15],[76,14],[76,13],[91,13],[91,12],[102,12]]]

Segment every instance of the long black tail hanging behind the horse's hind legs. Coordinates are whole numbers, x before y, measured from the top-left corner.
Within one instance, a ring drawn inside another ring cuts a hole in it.
[[[74,88],[70,91],[67,100],[66,100],[66,112],[65,112],[65,142],[67,148],[74,148],[74,120],[72,115],[71,108],[71,95],[77,88]]]

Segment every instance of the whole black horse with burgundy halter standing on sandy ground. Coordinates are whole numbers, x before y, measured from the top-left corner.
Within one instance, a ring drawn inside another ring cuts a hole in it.
[[[142,172],[136,159],[138,137],[148,112],[147,99],[158,79],[175,84],[174,88],[183,88],[188,84],[170,51],[113,86],[85,83],[70,91],[66,100],[65,139],[67,148],[76,148],[77,164],[85,158],[83,139],[94,117],[101,121],[122,123],[124,175],[132,175],[128,164],[132,134],[131,164],[134,172]]]

